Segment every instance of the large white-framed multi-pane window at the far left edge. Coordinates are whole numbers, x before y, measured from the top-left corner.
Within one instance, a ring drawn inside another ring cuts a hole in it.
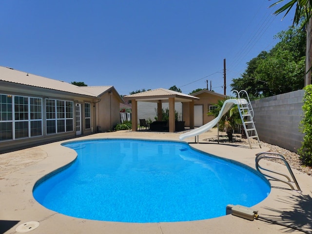
[[[42,99],[0,94],[0,140],[42,136]]]

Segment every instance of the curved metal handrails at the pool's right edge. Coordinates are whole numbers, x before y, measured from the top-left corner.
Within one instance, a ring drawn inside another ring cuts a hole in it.
[[[293,180],[293,181],[291,181],[290,177],[287,176],[286,174],[283,174],[283,173],[280,173],[280,172],[276,172],[276,171],[273,171],[273,170],[270,170],[270,169],[261,167],[261,166],[259,165],[259,161],[260,161],[261,159],[263,159],[263,158],[275,158],[275,159],[280,159],[280,160],[282,160],[282,161],[285,163],[285,166],[287,167],[288,172],[289,172],[290,175],[292,176],[292,180]],[[295,190],[294,187],[293,187],[293,185],[292,185],[292,183],[294,183],[294,184],[296,185],[296,187],[297,187],[297,190],[301,192],[301,189],[300,189],[300,187],[299,187],[299,184],[298,184],[298,182],[297,182],[295,176],[294,176],[293,173],[292,173],[292,169],[291,169],[289,163],[287,162],[287,160],[285,159],[285,157],[284,157],[283,155],[281,155],[281,154],[279,154],[279,153],[272,153],[272,152],[261,152],[261,153],[257,154],[256,157],[255,157],[255,167],[256,167],[257,171],[258,171],[259,173],[261,173],[262,175],[268,176],[269,178],[272,178],[272,179],[274,179],[274,180],[283,182],[283,183],[289,185],[289,186],[291,187],[292,190]],[[265,173],[263,173],[261,170],[264,170],[264,171],[267,171],[267,172],[271,172],[271,173],[274,173],[274,174],[277,174],[277,175],[280,175],[280,176],[284,176],[284,177],[286,177],[286,178],[288,179],[288,181],[283,180],[283,179],[280,179],[280,178],[275,177],[275,176],[272,176],[272,175],[265,174]]]

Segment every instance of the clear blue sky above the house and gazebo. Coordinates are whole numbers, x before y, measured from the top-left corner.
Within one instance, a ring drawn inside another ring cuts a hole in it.
[[[292,25],[277,0],[1,0],[0,66],[66,82],[223,94]]]

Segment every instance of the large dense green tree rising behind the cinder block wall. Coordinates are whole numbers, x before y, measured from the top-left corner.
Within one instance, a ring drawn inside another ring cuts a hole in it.
[[[251,99],[270,97],[304,87],[305,32],[290,27],[276,35],[280,41],[249,61],[240,78],[233,79],[232,90],[246,90]]]

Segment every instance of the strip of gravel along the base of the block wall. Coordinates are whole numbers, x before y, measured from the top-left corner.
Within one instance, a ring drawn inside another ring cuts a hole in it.
[[[217,137],[207,138],[204,140],[217,142]],[[254,139],[252,139],[252,142],[253,141],[254,141],[254,143],[256,143],[256,141]],[[240,135],[234,136],[234,142],[229,142],[228,137],[226,137],[226,136],[220,136],[219,142],[224,143],[224,144],[238,144],[238,145],[248,145],[249,144],[248,140],[241,138]],[[283,155],[286,158],[287,162],[289,163],[289,165],[291,166],[292,169],[296,169],[300,172],[306,173],[309,176],[312,176],[312,167],[307,167],[307,166],[302,165],[301,160],[299,158],[299,155],[297,155],[296,153],[293,153],[289,150],[281,148],[277,145],[268,144],[268,143],[263,142],[263,141],[260,141],[260,143],[261,143],[262,147],[269,148],[270,152],[279,153],[279,154]],[[281,160],[274,160],[274,159],[272,159],[272,160],[276,161],[278,163],[284,164]]]

